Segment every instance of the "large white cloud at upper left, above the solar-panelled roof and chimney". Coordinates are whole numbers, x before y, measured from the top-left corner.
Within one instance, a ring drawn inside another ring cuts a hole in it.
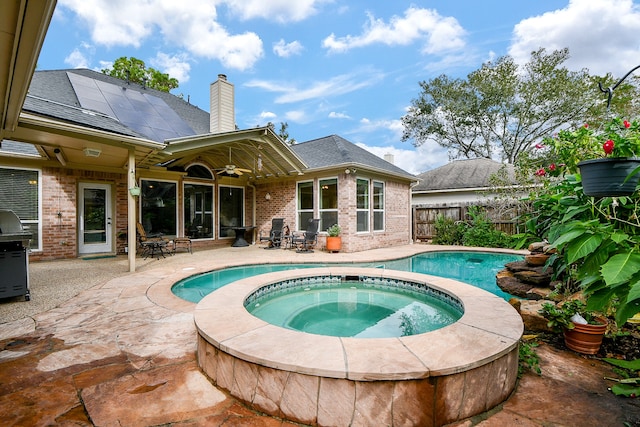
[[[262,40],[253,32],[230,34],[217,19],[216,5],[201,0],[60,0],[90,28],[91,38],[107,47],[133,46],[156,29],[165,42],[195,56],[246,70],[263,56]]]

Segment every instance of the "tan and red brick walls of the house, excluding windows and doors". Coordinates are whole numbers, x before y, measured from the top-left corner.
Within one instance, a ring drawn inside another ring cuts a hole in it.
[[[356,252],[367,249],[404,245],[410,242],[410,189],[409,183],[389,180],[386,177],[359,177],[385,183],[385,230],[356,233],[356,179],[353,174],[345,174],[344,169],[322,175],[305,176],[313,179],[317,188],[318,180],[338,177],[338,222],[342,227],[342,251]],[[248,185],[245,187],[245,224],[254,223],[253,237],[259,243],[259,236],[268,235],[272,218],[284,218],[291,231],[296,231],[296,188],[301,179],[285,178],[279,181]],[[30,259],[51,260],[75,258],[78,254],[78,186],[82,182],[111,185],[112,225],[114,230],[113,251],[125,253],[127,245],[127,202],[128,185],[126,173],[97,172],[65,168],[42,168],[42,247],[34,251]],[[217,192],[217,187],[214,190]],[[255,198],[254,198],[255,192]],[[267,199],[267,193],[269,198]],[[178,182],[178,198],[182,198],[182,183]],[[255,209],[253,201],[255,200]],[[139,199],[136,198],[136,203]],[[317,209],[317,207],[316,207]],[[137,211],[137,208],[136,208]],[[217,211],[217,209],[216,209]],[[179,221],[183,213],[178,212]],[[217,212],[216,212],[217,215]],[[371,212],[370,224],[373,224]],[[317,217],[317,211],[316,211]],[[216,217],[216,222],[218,218]],[[373,227],[371,227],[373,228]],[[217,234],[217,233],[216,233]],[[247,233],[247,239],[250,233]],[[326,233],[320,233],[318,250],[325,248]],[[193,247],[226,247],[229,239],[195,240]]]

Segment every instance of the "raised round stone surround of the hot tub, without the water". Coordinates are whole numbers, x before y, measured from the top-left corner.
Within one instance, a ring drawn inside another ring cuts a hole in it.
[[[351,338],[285,329],[245,309],[247,297],[265,287],[345,276],[418,286],[464,313],[423,334]],[[234,282],[197,305],[195,322],[198,363],[217,386],[260,411],[318,425],[437,426],[485,412],[515,387],[523,332],[518,313],[489,292],[435,276],[351,267]]]

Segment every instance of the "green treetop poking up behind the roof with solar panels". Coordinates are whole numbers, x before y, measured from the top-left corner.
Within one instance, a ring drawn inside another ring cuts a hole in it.
[[[101,70],[103,74],[150,88],[169,92],[178,87],[178,80],[155,68],[147,67],[141,59],[122,56],[113,62],[112,68]]]

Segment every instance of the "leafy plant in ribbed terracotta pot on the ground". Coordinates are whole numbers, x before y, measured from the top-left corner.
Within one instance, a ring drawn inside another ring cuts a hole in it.
[[[567,300],[559,304],[544,303],[540,309],[547,326],[563,332],[566,346],[578,353],[596,354],[607,329],[607,319],[587,311],[580,300]]]

